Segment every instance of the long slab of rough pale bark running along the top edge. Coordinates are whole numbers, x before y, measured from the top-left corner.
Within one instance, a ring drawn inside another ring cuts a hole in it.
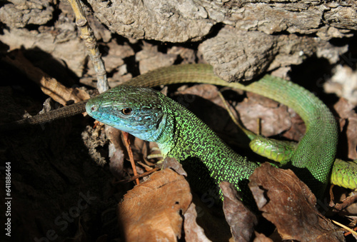
[[[353,1],[89,1],[116,33],[158,41],[202,39],[213,24],[244,31],[341,37],[357,29]]]

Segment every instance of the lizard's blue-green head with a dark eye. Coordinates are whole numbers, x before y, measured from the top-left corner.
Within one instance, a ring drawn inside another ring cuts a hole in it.
[[[136,86],[116,86],[90,99],[89,116],[146,141],[157,141],[164,126],[160,93]]]

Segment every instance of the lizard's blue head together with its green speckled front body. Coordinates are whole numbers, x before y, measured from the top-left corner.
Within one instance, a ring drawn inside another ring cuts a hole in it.
[[[131,114],[123,114],[124,109]],[[218,183],[229,181],[247,190],[248,177],[258,167],[226,146],[191,111],[152,89],[117,86],[90,99],[86,110],[102,123],[158,143],[164,157],[183,163],[197,190],[217,200]]]

